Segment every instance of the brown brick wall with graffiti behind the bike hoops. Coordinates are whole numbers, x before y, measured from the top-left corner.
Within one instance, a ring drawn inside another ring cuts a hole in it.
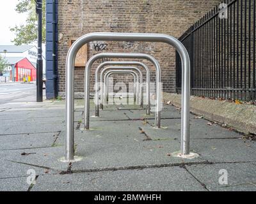
[[[198,18],[211,10],[219,0],[61,0],[58,2],[58,75],[59,91],[65,92],[65,59],[68,41],[92,32],[163,33],[179,38]],[[100,48],[97,45],[108,44]],[[165,43],[92,42],[88,57],[99,52],[141,52],[159,61],[163,91],[175,92],[175,52]],[[107,59],[106,59],[107,60]],[[120,59],[111,59],[120,60]],[[122,59],[123,61],[124,59]],[[128,59],[131,61],[132,59]],[[138,60],[137,60],[138,61]],[[141,60],[139,60],[141,61]],[[155,69],[148,61],[152,80]],[[94,85],[95,62],[91,75]],[[84,68],[75,69],[75,91],[83,92]]]

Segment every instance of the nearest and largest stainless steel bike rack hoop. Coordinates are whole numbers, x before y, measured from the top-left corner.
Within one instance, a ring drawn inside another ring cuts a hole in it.
[[[172,36],[166,34],[147,34],[147,33],[89,33],[78,38],[70,47],[66,60],[66,151],[65,159],[67,162],[74,161],[74,64],[78,50],[84,44],[91,41],[152,41],[168,43],[175,47],[182,61],[182,116],[181,116],[181,154],[189,154],[189,100],[190,100],[190,61],[188,51],[182,43]],[[97,58],[97,57],[95,57]],[[94,59],[95,59],[94,58]],[[158,62],[155,62],[158,66]],[[86,77],[84,96],[86,100],[86,113],[90,110],[90,69],[92,61],[86,64]],[[157,90],[160,86],[157,84]],[[156,96],[160,99],[160,92]],[[158,108],[158,107],[157,107]],[[158,109],[156,109],[159,112]]]

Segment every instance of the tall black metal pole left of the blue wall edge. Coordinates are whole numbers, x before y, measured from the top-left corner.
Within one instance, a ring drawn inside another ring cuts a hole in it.
[[[43,60],[42,60],[42,0],[36,2],[38,20],[37,61],[36,61],[36,102],[43,102]]]

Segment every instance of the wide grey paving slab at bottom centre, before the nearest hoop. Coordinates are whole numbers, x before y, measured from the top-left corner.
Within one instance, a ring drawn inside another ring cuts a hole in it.
[[[179,167],[38,177],[32,191],[205,191]]]

